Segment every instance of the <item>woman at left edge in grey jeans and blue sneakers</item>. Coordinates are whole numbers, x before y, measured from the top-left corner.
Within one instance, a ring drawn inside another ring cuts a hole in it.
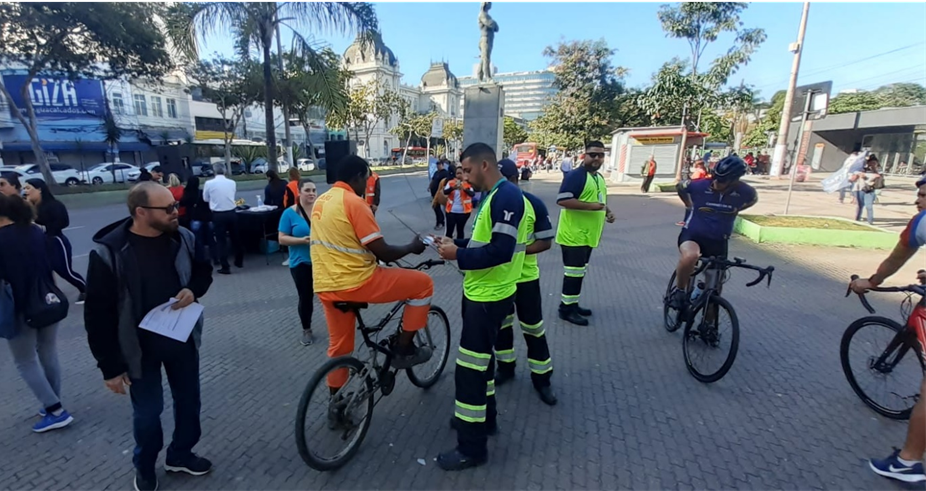
[[[58,322],[39,327],[42,320],[67,316],[67,300],[54,291],[45,234],[32,217],[32,207],[24,200],[0,195],[0,335],[9,343],[19,375],[42,405],[42,419],[32,431],[43,433],[64,428],[74,418],[61,406]],[[42,319],[49,305],[55,315]]]

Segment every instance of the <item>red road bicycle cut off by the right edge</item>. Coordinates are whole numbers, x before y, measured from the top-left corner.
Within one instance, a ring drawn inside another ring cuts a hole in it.
[[[857,279],[858,276],[852,276],[853,281]],[[859,399],[876,413],[891,419],[909,419],[913,406],[920,398],[919,388],[926,370],[923,346],[917,336],[918,332],[926,334],[926,286],[878,287],[870,291],[906,293],[907,298],[900,308],[906,324],[901,326],[893,319],[876,315],[862,317],[850,324],[839,346],[842,371]],[[847,290],[846,297],[850,293],[852,290]],[[920,296],[916,306],[913,305],[913,295]],[[875,313],[864,294],[859,294],[859,300],[865,310]],[[865,339],[868,335],[872,336],[871,340]],[[853,370],[853,361],[859,360],[864,361],[861,370]],[[866,375],[871,376],[872,383],[859,381]],[[899,382],[897,388],[888,387],[893,380]],[[883,397],[873,396],[877,389],[884,389]]]

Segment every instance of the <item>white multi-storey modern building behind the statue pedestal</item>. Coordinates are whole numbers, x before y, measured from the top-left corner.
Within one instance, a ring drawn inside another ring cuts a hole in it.
[[[505,115],[533,121],[543,114],[546,106],[556,95],[553,82],[556,75],[550,70],[531,72],[496,73],[493,80],[505,89]],[[479,83],[476,76],[460,78],[460,87],[466,88]],[[463,103],[460,102],[460,112]]]

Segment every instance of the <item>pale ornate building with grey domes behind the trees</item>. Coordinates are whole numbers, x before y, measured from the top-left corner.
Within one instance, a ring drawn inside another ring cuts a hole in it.
[[[382,37],[376,36],[367,43],[355,40],[344,51],[342,64],[353,74],[351,83],[366,84],[377,80],[383,91],[397,92],[414,112],[426,113],[434,110],[442,118],[460,116],[463,92],[457,77],[445,62],[432,63],[421,76],[418,86],[403,84],[398,58],[386,46]],[[399,115],[393,114],[387,121],[376,125],[370,134],[369,142],[366,141],[366,135],[361,134],[357,142],[358,153],[372,160],[388,159],[393,148],[405,145],[404,141],[400,141],[390,131],[399,123]],[[351,137],[353,133],[351,131]]]

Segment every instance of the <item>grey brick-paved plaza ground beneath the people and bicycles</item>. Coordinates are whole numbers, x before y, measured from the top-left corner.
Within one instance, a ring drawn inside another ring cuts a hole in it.
[[[552,176],[538,177],[533,191],[555,223],[558,183]],[[412,235],[389,209],[419,232],[431,231],[425,187],[420,174],[383,179],[377,218],[387,240],[399,243]],[[672,195],[624,190],[609,204],[618,220],[606,226],[583,288],[582,304],[594,310],[589,327],[557,318],[559,248],[540,256],[560,402],[547,407],[533,393],[524,342],[517,336],[518,378],[498,389],[500,434],[489,440],[487,465],[446,473],[433,461],[455,443],[447,425],[453,407],[451,360],[430,391],[399,378],[396,390],[376,407],[366,440],[348,465],[331,473],[308,468],[296,451],[294,416],[306,382],[325,360],[324,318],[316,302],[314,325],[321,342],[301,346],[296,292],[280,266],[283,257],[274,256],[268,266],[264,258],[249,256],[244,269],[216,275],[202,299],[203,438],[196,451],[211,459],[215,470],[196,478],[165,475],[159,468],[161,489],[903,489],[872,473],[866,459],[900,446],[906,424],[864,406],[839,363],[845,327],[865,314],[856,298],[843,298],[848,277],[870,274],[886,252],[758,246],[734,239],[732,254],[774,265],[775,276],[769,289],[746,289],[752,273],[733,272],[724,296],[739,316],[739,354],[725,378],[704,385],[685,369],[681,333],[662,327],[662,295],[677,258],[681,205]],[[121,206],[72,213],[74,229],[68,234],[80,271],[93,232],[124,214]],[[923,266],[926,253],[920,252],[896,281],[912,279]],[[433,302],[450,316],[456,341],[462,279],[451,267],[435,268],[432,275]],[[69,286],[66,292],[74,295]],[[892,317],[900,300],[872,298],[879,312]],[[382,312],[384,307],[375,307],[368,315]],[[82,314],[82,307],[72,307],[59,336],[64,404],[75,418],[64,430],[30,431],[38,403],[6,348],[0,349],[2,491],[131,489],[131,405],[127,396],[103,386]],[[169,442],[169,396],[165,406]]]

